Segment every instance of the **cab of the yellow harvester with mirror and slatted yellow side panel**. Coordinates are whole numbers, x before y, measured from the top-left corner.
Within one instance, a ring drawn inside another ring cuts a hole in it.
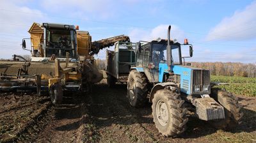
[[[22,49],[26,47],[26,39],[31,40],[31,60],[77,58],[76,27],[66,24],[34,23],[29,29],[31,38],[22,40]]]

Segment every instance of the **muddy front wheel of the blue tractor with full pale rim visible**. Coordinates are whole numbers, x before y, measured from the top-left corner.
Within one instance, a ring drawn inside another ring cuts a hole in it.
[[[186,130],[187,109],[179,93],[169,89],[158,90],[152,103],[154,123],[162,135],[175,137]]]

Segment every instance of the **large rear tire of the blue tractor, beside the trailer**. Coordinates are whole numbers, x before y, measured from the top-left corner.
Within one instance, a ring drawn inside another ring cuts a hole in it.
[[[127,80],[127,98],[132,107],[143,107],[147,102],[147,78],[143,73],[132,70]]]

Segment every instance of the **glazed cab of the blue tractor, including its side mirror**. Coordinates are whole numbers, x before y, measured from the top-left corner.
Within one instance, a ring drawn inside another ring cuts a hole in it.
[[[168,52],[168,40],[138,42],[136,44],[136,67],[134,68],[150,77],[150,82],[166,82],[166,78],[168,78],[166,77],[168,75],[166,74],[168,73],[168,57],[171,57],[169,61],[172,63],[173,69],[174,66],[182,66],[182,59],[184,59],[182,48],[186,50],[189,46],[189,57],[193,55],[192,45],[188,44],[188,40],[185,41],[184,44],[180,44],[176,40],[170,41],[171,53]]]

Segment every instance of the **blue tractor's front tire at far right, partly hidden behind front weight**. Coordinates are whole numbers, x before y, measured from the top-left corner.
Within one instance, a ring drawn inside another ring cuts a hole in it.
[[[239,105],[237,98],[227,91],[219,88],[211,89],[211,97],[220,103],[225,109],[225,119],[211,121],[211,124],[218,129],[230,129],[234,128],[243,113],[241,112],[242,105]]]

